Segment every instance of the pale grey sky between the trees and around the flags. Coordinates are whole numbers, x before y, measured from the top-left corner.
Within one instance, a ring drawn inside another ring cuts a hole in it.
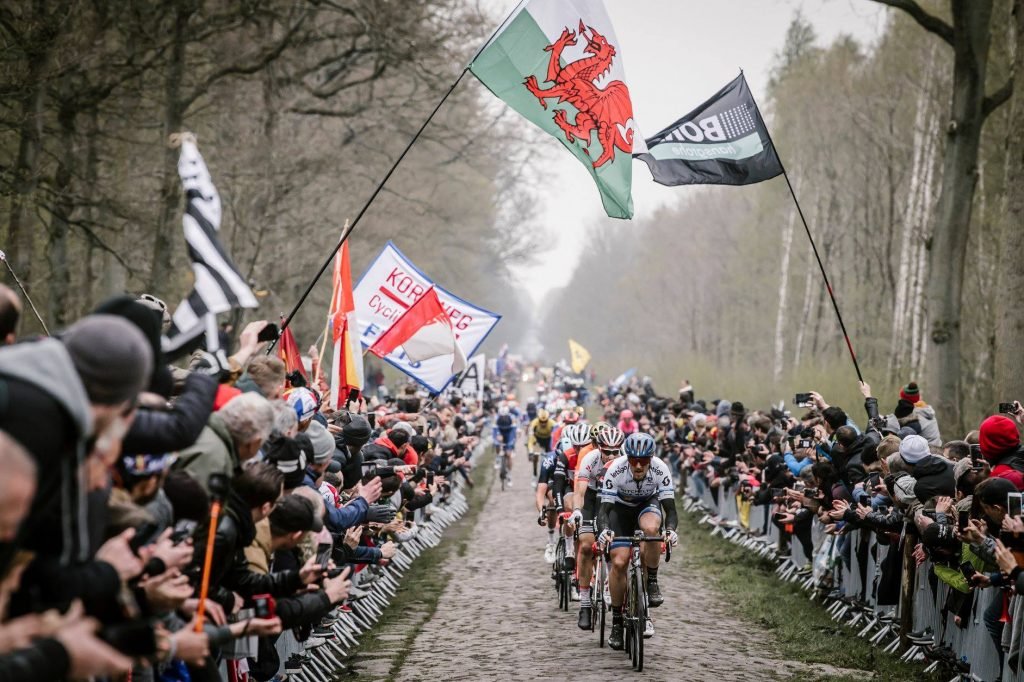
[[[512,0],[485,4],[496,22],[514,5]],[[740,69],[754,96],[763,101],[773,57],[798,8],[814,26],[819,44],[843,33],[871,43],[886,22],[886,10],[869,0],[605,0],[605,6],[625,59],[634,115],[645,135],[713,95]],[[588,227],[603,216],[587,170],[554,138],[545,136],[543,144],[544,166],[534,170],[547,178],[540,200],[552,239],[536,265],[517,271],[535,300],[566,284]],[[779,153],[784,162],[785,150]],[[634,220],[694,191],[700,189],[655,184],[643,163],[633,163]],[[632,226],[623,222],[618,229]]]

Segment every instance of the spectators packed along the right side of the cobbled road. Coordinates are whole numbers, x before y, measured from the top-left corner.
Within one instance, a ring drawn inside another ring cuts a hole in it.
[[[660,396],[647,378],[597,399],[605,421],[655,437],[686,509],[774,558],[849,632],[933,670],[1024,679],[1024,410],[949,434],[925,388],[861,384],[863,412],[814,391],[793,414],[752,411],[686,381]]]

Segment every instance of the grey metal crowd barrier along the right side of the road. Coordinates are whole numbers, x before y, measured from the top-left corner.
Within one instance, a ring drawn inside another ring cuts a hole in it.
[[[1010,598],[1009,619],[1001,640],[1007,653],[1000,677],[998,652],[983,616],[993,601],[1004,598],[1004,591],[994,588],[974,590],[970,616],[967,623],[957,626],[955,614],[945,609],[952,588],[938,580],[932,571],[932,562],[926,561],[913,576],[913,625],[909,636],[911,644],[907,648],[895,632],[900,622],[898,607],[880,605],[878,601],[883,574],[881,564],[890,552],[898,551],[895,546],[879,544],[874,532],[861,528],[840,540],[826,535],[822,524],[814,519],[811,532],[813,566],[808,566],[801,542],[795,535],[790,539],[788,552],[778,551],[780,531],[769,517],[771,505],[752,506],[744,526],[738,511],[738,486],[720,487],[717,502],[707,487],[698,494],[693,475],[688,477],[686,488],[687,498],[699,503],[699,509],[705,512],[700,520],[712,526],[713,536],[721,535],[761,556],[774,558],[779,563],[776,573],[781,580],[799,583],[812,594],[824,592],[825,602],[830,602],[827,611],[833,620],[851,626],[855,634],[873,645],[884,647],[905,662],[925,660],[925,645],[929,643],[948,646],[957,660],[970,665],[970,673],[956,674],[952,680],[1024,682],[1024,666],[1017,665],[1016,672],[1011,667],[1024,649],[1024,596]],[[1024,664],[1024,659],[1020,663]],[[938,666],[933,663],[927,670],[931,672]]]

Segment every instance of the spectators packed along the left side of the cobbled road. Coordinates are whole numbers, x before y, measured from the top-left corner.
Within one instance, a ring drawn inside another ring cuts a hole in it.
[[[332,410],[315,353],[286,376],[265,322],[183,368],[153,296],[50,338],[16,338],[20,311],[0,288],[0,681],[299,674],[472,484],[477,406]]]

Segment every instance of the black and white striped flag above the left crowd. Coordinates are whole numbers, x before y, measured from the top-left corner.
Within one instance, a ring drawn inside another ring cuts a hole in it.
[[[174,310],[163,348],[173,356],[201,334],[206,334],[206,349],[216,353],[220,350],[217,313],[232,308],[255,308],[259,302],[217,238],[220,195],[190,135],[182,136],[178,175],[185,194],[181,222],[196,282],[191,292]]]

